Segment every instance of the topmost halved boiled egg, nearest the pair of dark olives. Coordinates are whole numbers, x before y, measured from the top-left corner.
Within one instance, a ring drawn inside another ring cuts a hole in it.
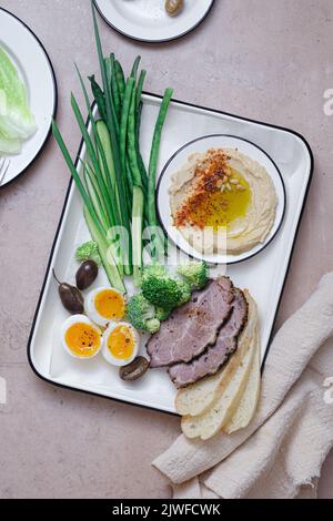
[[[124,295],[110,287],[93,289],[84,299],[87,315],[102,327],[121,320],[125,314],[125,306]]]

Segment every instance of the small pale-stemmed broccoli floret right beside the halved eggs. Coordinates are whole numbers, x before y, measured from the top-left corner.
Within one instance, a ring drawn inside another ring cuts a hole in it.
[[[137,293],[130,298],[127,314],[132,326],[140,331],[153,335],[160,329],[161,324],[155,317],[155,307],[141,293]]]

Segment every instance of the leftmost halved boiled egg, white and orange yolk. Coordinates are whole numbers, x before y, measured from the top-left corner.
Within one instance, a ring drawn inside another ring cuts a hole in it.
[[[72,315],[61,327],[61,344],[74,358],[92,358],[102,347],[102,331],[85,315]]]

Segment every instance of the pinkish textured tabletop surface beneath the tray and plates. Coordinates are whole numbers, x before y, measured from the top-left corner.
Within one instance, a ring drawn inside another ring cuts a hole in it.
[[[69,96],[97,70],[88,0],[3,0],[49,51],[59,83],[59,124],[75,153],[79,132]],[[216,0],[211,16],[179,41],[148,45],[102,23],[105,49],[129,67],[141,53],[147,89],[226,112],[290,126],[315,155],[314,182],[284,292],[278,326],[332,269],[333,116],[323,94],[333,88],[331,0]],[[249,23],[250,22],[250,23]],[[1,37],[0,37],[1,39]],[[0,193],[0,375],[9,399],[0,406],[1,498],[168,498],[150,461],[179,432],[174,417],[61,390],[37,379],[27,339],[69,174],[54,142],[27,174]],[[333,370],[333,369],[332,369]],[[333,498],[333,454],[322,498]]]

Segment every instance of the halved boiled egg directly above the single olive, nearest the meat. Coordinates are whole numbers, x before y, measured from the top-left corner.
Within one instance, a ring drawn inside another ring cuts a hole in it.
[[[102,355],[113,366],[131,364],[139,353],[139,334],[131,324],[113,324],[103,333]]]

